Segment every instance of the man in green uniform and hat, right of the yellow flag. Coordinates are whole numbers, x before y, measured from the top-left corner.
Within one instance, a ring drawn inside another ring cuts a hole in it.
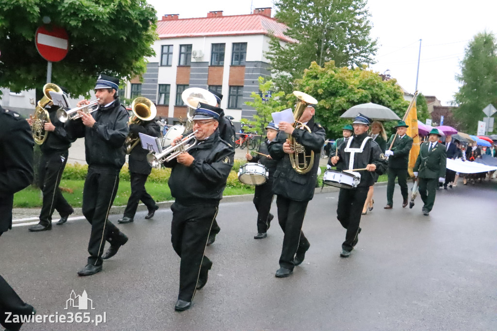
[[[445,146],[438,143],[440,137],[442,135],[437,129],[430,131],[428,141],[421,144],[419,156],[414,165],[414,176],[418,178],[419,195],[424,203],[422,209],[424,216],[428,216],[433,208],[438,182],[445,181],[447,157]]]

